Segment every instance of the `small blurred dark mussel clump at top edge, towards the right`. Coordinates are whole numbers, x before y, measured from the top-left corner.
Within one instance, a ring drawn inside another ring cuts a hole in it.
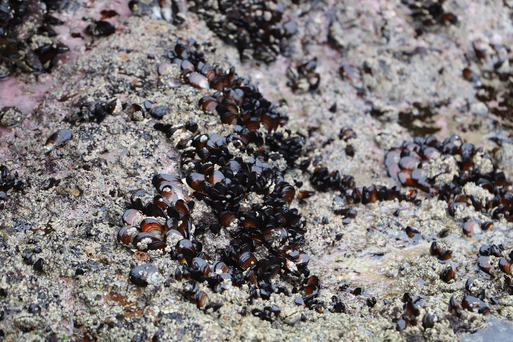
[[[401,2],[410,8],[413,19],[424,26],[450,25],[458,22],[456,14],[444,10],[445,0],[401,0]]]

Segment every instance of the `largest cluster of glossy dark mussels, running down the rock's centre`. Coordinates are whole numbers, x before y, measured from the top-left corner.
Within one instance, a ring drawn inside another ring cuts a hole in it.
[[[221,122],[232,127],[231,133],[221,135],[202,132],[195,123],[155,124],[181,150],[191,196],[203,201],[215,220],[208,226],[196,222],[195,227],[191,219],[194,202],[184,193],[182,179],[157,174],[152,184],[158,195],[139,191],[127,204],[119,242],[153,257],[170,254],[184,263],[177,275],[192,281],[186,297],[199,307],[206,301],[194,291],[195,281],[206,281],[214,291],[223,291],[227,282],[239,287],[248,284],[250,298],[269,299],[271,293],[291,295],[285,287],[272,284],[279,274],[288,274],[307,277],[300,288],[302,305],[322,311],[315,299],[320,281],[309,276],[309,256],[301,249],[306,221],[298,209],[289,208],[296,190],[284,176],[285,169],[295,166],[300,157],[303,138],[281,127],[287,117],[234,68],[224,72],[211,67],[200,53],[183,44],[174,53],[173,62],[180,63],[185,82],[196,87],[204,83],[199,88],[216,90],[199,105],[216,111]],[[213,234],[223,230],[230,237],[229,245],[216,255],[207,255],[202,242],[194,239],[207,230]],[[254,314],[267,319],[270,315],[265,312]]]

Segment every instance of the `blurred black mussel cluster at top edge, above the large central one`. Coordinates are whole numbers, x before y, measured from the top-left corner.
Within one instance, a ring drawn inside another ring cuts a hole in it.
[[[284,4],[277,0],[197,0],[195,4],[190,10],[234,45],[241,58],[272,62],[278,54],[287,54],[287,39],[297,31],[297,25],[284,16]]]

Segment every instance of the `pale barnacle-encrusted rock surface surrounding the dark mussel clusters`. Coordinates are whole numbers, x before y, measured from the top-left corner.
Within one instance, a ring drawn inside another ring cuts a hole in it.
[[[435,0],[284,0],[284,16],[297,24],[297,33],[287,41],[290,53],[269,64],[247,53],[241,62],[238,49],[194,12],[183,23],[168,23],[132,15],[125,0],[81,0],[53,13],[65,22],[58,37],[70,52],[60,56],[51,73],[17,70],[0,79],[0,110],[17,108],[0,111],[0,165],[25,183],[22,190],[7,192],[0,211],[0,340],[507,340],[513,332],[510,279],[499,269],[499,257],[490,256],[486,274],[478,268],[477,255],[481,246],[495,244],[504,247],[501,255],[507,257],[513,248],[512,224],[495,219],[491,230],[465,235],[464,222],[490,220],[490,213],[467,207],[450,216],[446,202],[422,191],[418,206],[398,200],[352,205],[358,214],[345,224],[334,209],[349,204],[334,200],[340,192],[314,189],[309,182],[313,165],[305,171],[287,169],[287,182],[303,182],[301,190],[314,191],[291,207],[307,221],[302,248],[310,255],[310,274],[321,280],[322,313],[295,304],[299,294],[271,294],[269,300],[249,304],[246,286],[215,293],[204,284],[200,290],[209,303],[223,306],[198,309],[182,295],[185,281],[174,278],[180,267],[176,260],[134,253],[116,241],[133,192],[154,194],[155,173],[185,175],[175,149],[183,136],[167,139],[153,128],[155,123],[193,120],[202,131],[231,132],[216,113],[198,105],[213,90],[186,83],[176,87],[176,65],[157,73],[160,63],[170,63],[167,53],[178,39],[194,39],[207,61],[226,70],[234,66],[249,78],[289,116],[285,128],[305,137],[303,157],[352,175],[357,187],[400,185],[386,173],[385,151],[429,134],[439,140],[459,134],[483,147],[506,177],[513,177],[513,5],[502,0],[439,2],[457,19],[438,16],[430,25],[429,11],[418,6],[436,5]],[[115,33],[86,34],[102,10],[116,11],[106,19]],[[294,92],[287,68],[314,57],[319,87]],[[145,100],[167,106],[169,113],[155,119],[130,112],[132,104],[143,106]],[[99,102],[117,107],[101,123],[84,119],[84,108]],[[344,126],[357,136],[339,138]],[[47,143],[65,129],[72,133],[69,140]],[[478,186],[465,191],[489,196]],[[211,222],[208,207],[196,202],[194,224]],[[421,236],[408,237],[408,226]],[[444,229],[448,234],[440,237]],[[196,238],[212,255],[229,243],[226,232],[207,231]],[[452,251],[448,263],[429,254],[435,240]],[[130,270],[148,263],[160,275],[146,287],[131,284]],[[448,265],[455,276],[446,283],[440,275]],[[273,282],[290,290],[301,285],[288,276]],[[356,288],[362,293],[354,294]],[[461,303],[465,294],[478,296],[483,289],[490,314],[449,312],[451,297]],[[420,297],[418,323],[397,331],[406,292]],[[345,305],[345,313],[334,312],[333,296]],[[376,304],[368,305],[372,298]],[[272,323],[251,314],[272,305],[281,309]],[[426,314],[432,316],[432,328],[423,327]]]

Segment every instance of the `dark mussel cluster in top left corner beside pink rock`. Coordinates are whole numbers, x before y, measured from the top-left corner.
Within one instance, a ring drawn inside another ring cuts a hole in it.
[[[25,72],[49,71],[57,55],[69,48],[55,37],[52,26],[64,24],[39,1],[0,2],[0,78],[13,67]]]

